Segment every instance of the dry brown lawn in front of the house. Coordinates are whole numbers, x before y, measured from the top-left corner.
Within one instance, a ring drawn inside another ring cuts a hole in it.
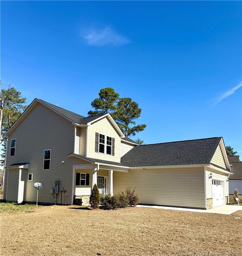
[[[242,211],[53,207],[1,213],[0,254],[242,255]]]

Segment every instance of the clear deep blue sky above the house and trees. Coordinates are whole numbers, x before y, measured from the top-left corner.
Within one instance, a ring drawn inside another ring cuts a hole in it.
[[[1,1],[1,80],[87,115],[101,88],[146,144],[222,136],[242,158],[241,1]]]

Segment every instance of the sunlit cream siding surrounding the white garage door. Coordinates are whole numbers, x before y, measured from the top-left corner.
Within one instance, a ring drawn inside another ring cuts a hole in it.
[[[209,174],[212,174],[212,178],[209,178]],[[229,187],[229,182],[226,181],[228,178],[228,174],[224,175],[222,173],[214,172],[212,170],[206,169],[206,197],[208,198],[213,198],[212,194],[212,180],[219,180],[223,182],[223,189],[224,189],[224,197],[229,195],[228,187]]]

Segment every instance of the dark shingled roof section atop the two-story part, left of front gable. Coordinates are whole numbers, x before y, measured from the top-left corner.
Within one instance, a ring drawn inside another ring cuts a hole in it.
[[[57,112],[59,112],[60,114],[64,115],[65,117],[67,117],[68,119],[71,119],[71,121],[77,123],[77,124],[87,124],[97,118],[99,118],[102,115],[97,115],[97,116],[90,116],[90,117],[85,117],[85,116],[81,116],[78,115],[74,112],[71,112],[69,110],[63,109],[62,107],[58,107],[55,106],[47,101],[43,101],[42,99],[38,99],[38,101],[42,102],[43,104],[47,105],[48,107],[50,107],[51,109],[56,110]]]

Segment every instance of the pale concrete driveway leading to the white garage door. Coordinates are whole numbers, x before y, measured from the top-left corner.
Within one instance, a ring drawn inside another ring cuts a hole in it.
[[[214,207],[209,210],[201,210],[201,209],[191,209],[191,208],[179,208],[179,207],[170,207],[170,206],[157,206],[157,205],[137,205],[137,207],[149,207],[149,208],[157,208],[157,209],[168,209],[168,210],[177,210],[177,211],[194,211],[198,213],[217,213],[217,214],[231,214],[236,211],[242,210],[241,205],[222,205]]]

